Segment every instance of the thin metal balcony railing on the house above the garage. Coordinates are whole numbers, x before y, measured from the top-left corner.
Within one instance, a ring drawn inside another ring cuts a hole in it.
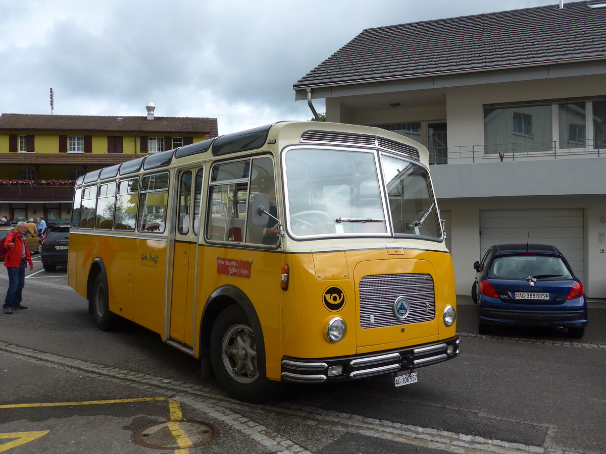
[[[430,164],[568,159],[606,156],[606,139],[494,143],[430,148]]]

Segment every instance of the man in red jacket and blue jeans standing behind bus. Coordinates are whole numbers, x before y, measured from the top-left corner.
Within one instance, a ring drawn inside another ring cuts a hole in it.
[[[25,286],[25,263],[29,263],[30,271],[33,271],[34,264],[30,249],[25,244],[25,232],[27,223],[19,222],[15,229],[8,232],[5,240],[8,252],[4,257],[4,266],[8,273],[8,290],[2,306],[4,314],[12,314],[13,309],[27,309],[27,306],[21,305],[21,291]]]

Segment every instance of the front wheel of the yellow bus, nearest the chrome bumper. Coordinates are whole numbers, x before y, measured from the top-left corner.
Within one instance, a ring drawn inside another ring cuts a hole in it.
[[[239,306],[225,308],[210,332],[210,361],[219,384],[233,398],[260,403],[278,394],[281,383],[265,377],[265,352],[256,350],[247,315]]]

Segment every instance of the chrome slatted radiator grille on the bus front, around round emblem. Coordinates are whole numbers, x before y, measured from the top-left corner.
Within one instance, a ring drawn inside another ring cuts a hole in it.
[[[408,315],[404,319],[394,312],[398,297],[408,300]],[[433,278],[427,273],[365,276],[359,283],[359,298],[362,328],[419,323],[436,316]]]

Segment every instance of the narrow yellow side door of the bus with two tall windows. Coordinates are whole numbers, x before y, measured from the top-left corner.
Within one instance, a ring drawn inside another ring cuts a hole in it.
[[[175,227],[170,300],[167,301],[168,338],[194,349],[196,314],[196,270],[200,208],[204,168],[186,169],[178,174],[175,194]],[[170,268],[169,268],[170,270]],[[200,270],[201,271],[201,270]]]

